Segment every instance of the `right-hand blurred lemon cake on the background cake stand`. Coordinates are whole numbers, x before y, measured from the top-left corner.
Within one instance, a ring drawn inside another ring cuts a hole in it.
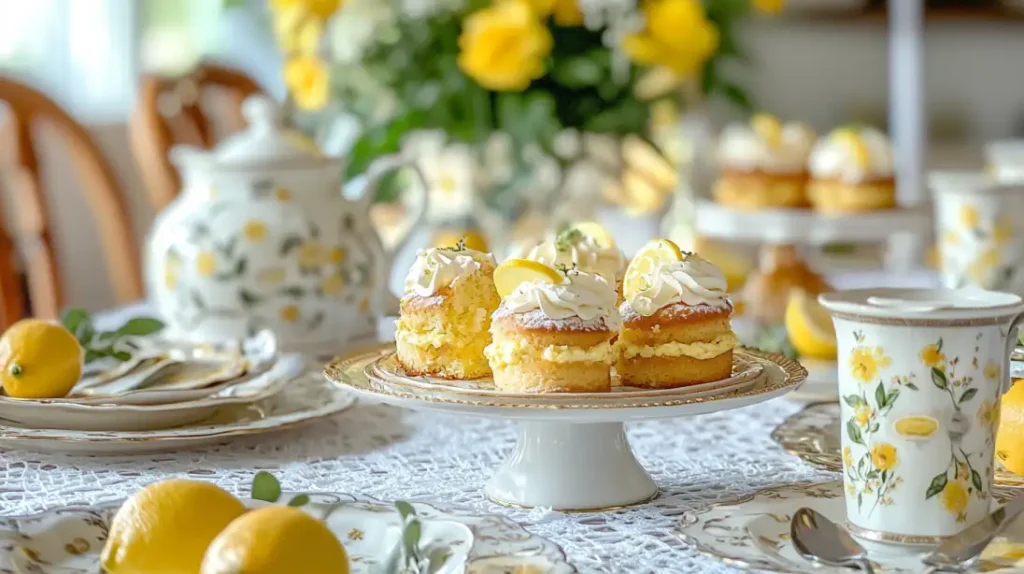
[[[873,128],[839,128],[811,151],[808,196],[826,213],[896,206],[892,144]]]

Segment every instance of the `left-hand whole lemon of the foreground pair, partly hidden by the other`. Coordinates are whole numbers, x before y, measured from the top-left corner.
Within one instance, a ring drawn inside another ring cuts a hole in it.
[[[173,479],[122,504],[103,547],[110,574],[196,574],[210,541],[246,506],[219,486]]]

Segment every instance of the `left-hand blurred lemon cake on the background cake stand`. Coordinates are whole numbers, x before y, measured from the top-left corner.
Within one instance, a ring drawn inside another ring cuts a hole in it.
[[[814,132],[759,114],[722,131],[715,200],[742,210],[807,206],[807,156]]]

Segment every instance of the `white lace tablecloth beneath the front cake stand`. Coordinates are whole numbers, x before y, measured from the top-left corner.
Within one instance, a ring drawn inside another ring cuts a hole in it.
[[[523,511],[480,487],[515,442],[515,424],[360,404],[333,420],[213,448],[140,456],[0,451],[0,514],[122,498],[171,476],[248,491],[269,471],[288,490],[353,492],[503,514],[561,544],[581,573],[736,570],[672,535],[688,509],[761,487],[836,475],[785,454],[769,438],[800,405],[785,398],[733,411],[628,426],[641,463],[662,487],[653,501],[603,514]]]

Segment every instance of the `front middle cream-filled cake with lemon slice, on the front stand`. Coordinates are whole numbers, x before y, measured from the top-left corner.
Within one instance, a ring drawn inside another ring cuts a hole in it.
[[[524,393],[611,389],[613,342],[620,326],[616,294],[599,275],[562,269],[510,260],[496,272],[504,297],[492,320],[494,341],[484,352],[499,389]],[[509,275],[519,276],[501,278]]]

